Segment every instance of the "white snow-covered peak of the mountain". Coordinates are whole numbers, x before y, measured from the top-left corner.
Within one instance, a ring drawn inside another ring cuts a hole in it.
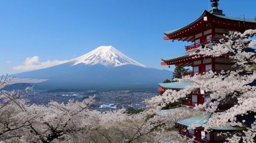
[[[72,60],[74,65],[84,63],[86,65],[102,64],[105,66],[121,66],[133,64],[146,67],[145,65],[132,60],[113,46],[100,46],[93,51]]]

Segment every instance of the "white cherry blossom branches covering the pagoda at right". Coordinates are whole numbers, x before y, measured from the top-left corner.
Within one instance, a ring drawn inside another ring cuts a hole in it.
[[[206,72],[204,74],[189,75],[177,81],[193,82],[182,90],[166,90],[162,96],[156,96],[148,101],[148,104],[156,108],[162,108],[166,104],[177,102],[180,98],[186,98],[191,91],[204,90],[210,97],[210,104],[199,104],[195,110],[212,112],[210,119],[203,125],[205,131],[212,127],[227,127],[228,125],[244,128],[227,136],[228,142],[255,142],[256,141],[256,116],[254,119],[238,121],[238,116],[246,116],[256,113],[256,72],[246,71],[246,67],[256,65],[256,30],[246,30],[244,33],[230,32],[225,39],[213,48],[201,46],[199,53],[192,53],[194,57],[220,57],[226,56],[233,60],[234,71]],[[215,112],[219,105],[236,99],[235,105],[224,112]],[[250,125],[245,125],[246,120],[253,120]],[[189,129],[195,129],[198,125],[192,125]]]

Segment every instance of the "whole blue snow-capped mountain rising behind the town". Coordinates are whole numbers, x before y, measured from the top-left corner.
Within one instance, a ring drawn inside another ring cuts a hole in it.
[[[66,63],[16,75],[13,83],[42,89],[150,88],[172,78],[171,71],[147,68],[113,46],[100,46]]]

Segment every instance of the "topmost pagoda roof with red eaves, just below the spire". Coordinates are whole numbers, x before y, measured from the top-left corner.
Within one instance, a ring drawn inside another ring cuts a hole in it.
[[[204,19],[205,16],[206,19]],[[256,21],[253,19],[234,18],[224,14],[210,13],[205,10],[197,20],[187,26],[165,31],[164,35],[166,35],[166,37],[164,37],[164,39],[193,41],[194,35],[199,33],[198,31],[203,32],[212,27],[244,31],[246,29],[256,28]]]

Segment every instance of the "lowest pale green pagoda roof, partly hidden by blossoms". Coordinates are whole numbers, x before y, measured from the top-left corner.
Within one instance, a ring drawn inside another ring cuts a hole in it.
[[[212,113],[209,113],[209,112],[202,113],[201,115],[196,115],[196,116],[190,117],[189,119],[178,121],[177,124],[185,125],[186,127],[189,127],[190,125],[198,125],[198,126],[202,127],[202,125],[205,124],[209,120],[211,115],[212,115]],[[231,125],[228,125],[226,127],[213,127],[211,129],[213,129],[213,130],[243,130],[244,128],[232,127]]]

